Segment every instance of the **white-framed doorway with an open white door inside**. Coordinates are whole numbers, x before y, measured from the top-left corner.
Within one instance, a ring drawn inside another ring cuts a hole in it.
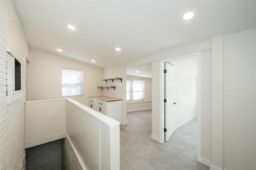
[[[201,158],[200,52],[160,61],[162,142],[187,144]]]

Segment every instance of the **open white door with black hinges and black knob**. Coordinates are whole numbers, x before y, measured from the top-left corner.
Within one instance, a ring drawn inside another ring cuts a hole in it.
[[[174,133],[174,66],[169,63],[165,63],[166,73],[164,74],[165,78],[165,141],[167,142],[169,138]]]

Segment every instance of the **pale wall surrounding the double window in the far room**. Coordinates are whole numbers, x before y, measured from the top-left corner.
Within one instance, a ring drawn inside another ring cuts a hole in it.
[[[127,112],[142,111],[152,109],[152,79],[138,76],[127,75],[127,80],[144,80],[145,81],[145,99],[139,101],[126,101]]]

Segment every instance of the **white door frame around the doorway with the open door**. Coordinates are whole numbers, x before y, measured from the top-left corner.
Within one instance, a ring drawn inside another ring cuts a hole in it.
[[[186,57],[197,57],[197,160],[201,157],[201,52],[160,60],[160,143],[164,142],[164,63]]]

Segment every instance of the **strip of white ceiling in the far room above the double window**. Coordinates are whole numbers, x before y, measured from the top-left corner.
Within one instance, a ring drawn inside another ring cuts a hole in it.
[[[136,71],[140,72],[136,73]],[[152,63],[144,63],[127,67],[126,74],[138,77],[152,78]]]

